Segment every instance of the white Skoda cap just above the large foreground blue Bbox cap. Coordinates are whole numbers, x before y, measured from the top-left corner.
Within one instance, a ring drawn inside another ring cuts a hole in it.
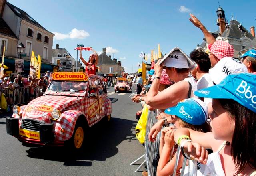
[[[220,83],[226,76],[233,73],[247,73],[246,66],[232,57],[224,57],[216,65],[209,69],[210,77],[215,84]]]

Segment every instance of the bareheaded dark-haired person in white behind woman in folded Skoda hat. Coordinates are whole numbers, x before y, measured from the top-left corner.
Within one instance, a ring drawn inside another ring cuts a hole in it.
[[[209,69],[211,67],[211,62],[209,55],[202,51],[202,49],[194,50],[190,53],[190,59],[196,62],[197,66],[191,71],[193,77],[196,77],[196,87],[197,89],[203,89],[208,86],[212,81],[209,75]]]

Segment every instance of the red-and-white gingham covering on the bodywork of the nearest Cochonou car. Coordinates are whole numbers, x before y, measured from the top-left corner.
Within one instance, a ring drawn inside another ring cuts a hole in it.
[[[112,103],[111,100],[105,96],[100,96],[100,111],[96,113],[95,117],[88,118],[88,107],[95,102],[98,102],[98,99],[87,98],[87,97],[66,97],[66,96],[41,96],[38,97],[27,106],[22,106],[22,117],[19,120],[19,126],[21,125],[22,119],[35,119],[45,123],[51,122],[51,112],[42,111],[42,109],[35,106],[42,107],[52,107],[52,109],[58,109],[62,112],[60,118],[54,123],[54,136],[58,141],[65,141],[72,137],[75,123],[80,115],[85,115],[88,125],[91,127],[105,115],[110,115],[112,113]],[[32,110],[26,111],[29,107],[33,107]],[[13,117],[19,118],[18,115],[13,115]],[[61,129],[64,129],[65,132],[62,133]]]

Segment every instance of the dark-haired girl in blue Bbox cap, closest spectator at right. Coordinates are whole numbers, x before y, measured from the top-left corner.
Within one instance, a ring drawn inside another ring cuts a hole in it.
[[[228,75],[218,85],[195,92],[213,99],[212,132],[181,128],[174,132],[174,140],[188,157],[206,164],[204,175],[256,175],[255,92],[256,75],[251,73]],[[208,156],[204,148],[213,153]]]

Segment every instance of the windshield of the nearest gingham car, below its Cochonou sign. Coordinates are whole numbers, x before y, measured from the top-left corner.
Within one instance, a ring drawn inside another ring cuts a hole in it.
[[[48,87],[48,91],[54,92],[84,92],[86,89],[85,82],[79,81],[52,81]]]

